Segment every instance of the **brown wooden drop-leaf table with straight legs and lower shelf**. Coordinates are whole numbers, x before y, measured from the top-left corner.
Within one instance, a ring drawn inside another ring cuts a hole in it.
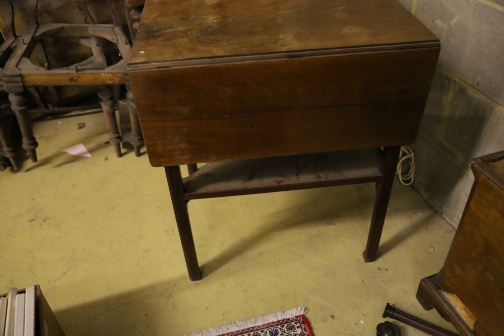
[[[129,76],[191,280],[186,203],[203,197],[375,182],[373,261],[438,54],[396,0],[148,0]],[[208,164],[182,179],[178,165],[196,162]]]

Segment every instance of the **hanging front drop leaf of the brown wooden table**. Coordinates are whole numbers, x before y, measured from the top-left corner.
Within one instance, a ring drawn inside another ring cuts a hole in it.
[[[416,139],[438,48],[135,71],[155,167]]]

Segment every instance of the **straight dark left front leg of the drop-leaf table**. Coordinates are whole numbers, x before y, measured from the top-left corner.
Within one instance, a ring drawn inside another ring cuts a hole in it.
[[[175,220],[177,221],[178,233],[180,235],[180,241],[182,242],[182,250],[184,252],[189,279],[192,281],[201,280],[201,270],[198,265],[193,232],[191,231],[189,213],[187,212],[187,201],[184,199],[180,167],[169,166],[164,167],[164,170],[166,172],[168,188],[170,189],[171,203],[173,204],[173,212],[175,213]]]

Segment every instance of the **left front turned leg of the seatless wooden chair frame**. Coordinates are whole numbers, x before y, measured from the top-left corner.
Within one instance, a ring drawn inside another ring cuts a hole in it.
[[[32,162],[37,162],[37,152],[35,149],[38,146],[35,137],[33,137],[33,126],[31,118],[28,115],[28,99],[24,92],[9,93],[9,101],[11,108],[16,114],[21,134],[23,135],[23,148],[28,152]]]

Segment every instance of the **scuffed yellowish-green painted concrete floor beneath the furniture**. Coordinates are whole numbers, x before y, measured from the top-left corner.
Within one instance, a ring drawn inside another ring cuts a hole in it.
[[[415,293],[454,229],[412,188],[396,180],[373,263],[371,184],[193,200],[191,282],[163,169],[117,159],[106,133],[100,114],[36,123],[39,162],[0,172],[0,290],[40,284],[67,335],[179,336],[297,306],[316,336],[374,335],[387,302],[450,328]],[[61,152],[78,143],[92,158]]]

